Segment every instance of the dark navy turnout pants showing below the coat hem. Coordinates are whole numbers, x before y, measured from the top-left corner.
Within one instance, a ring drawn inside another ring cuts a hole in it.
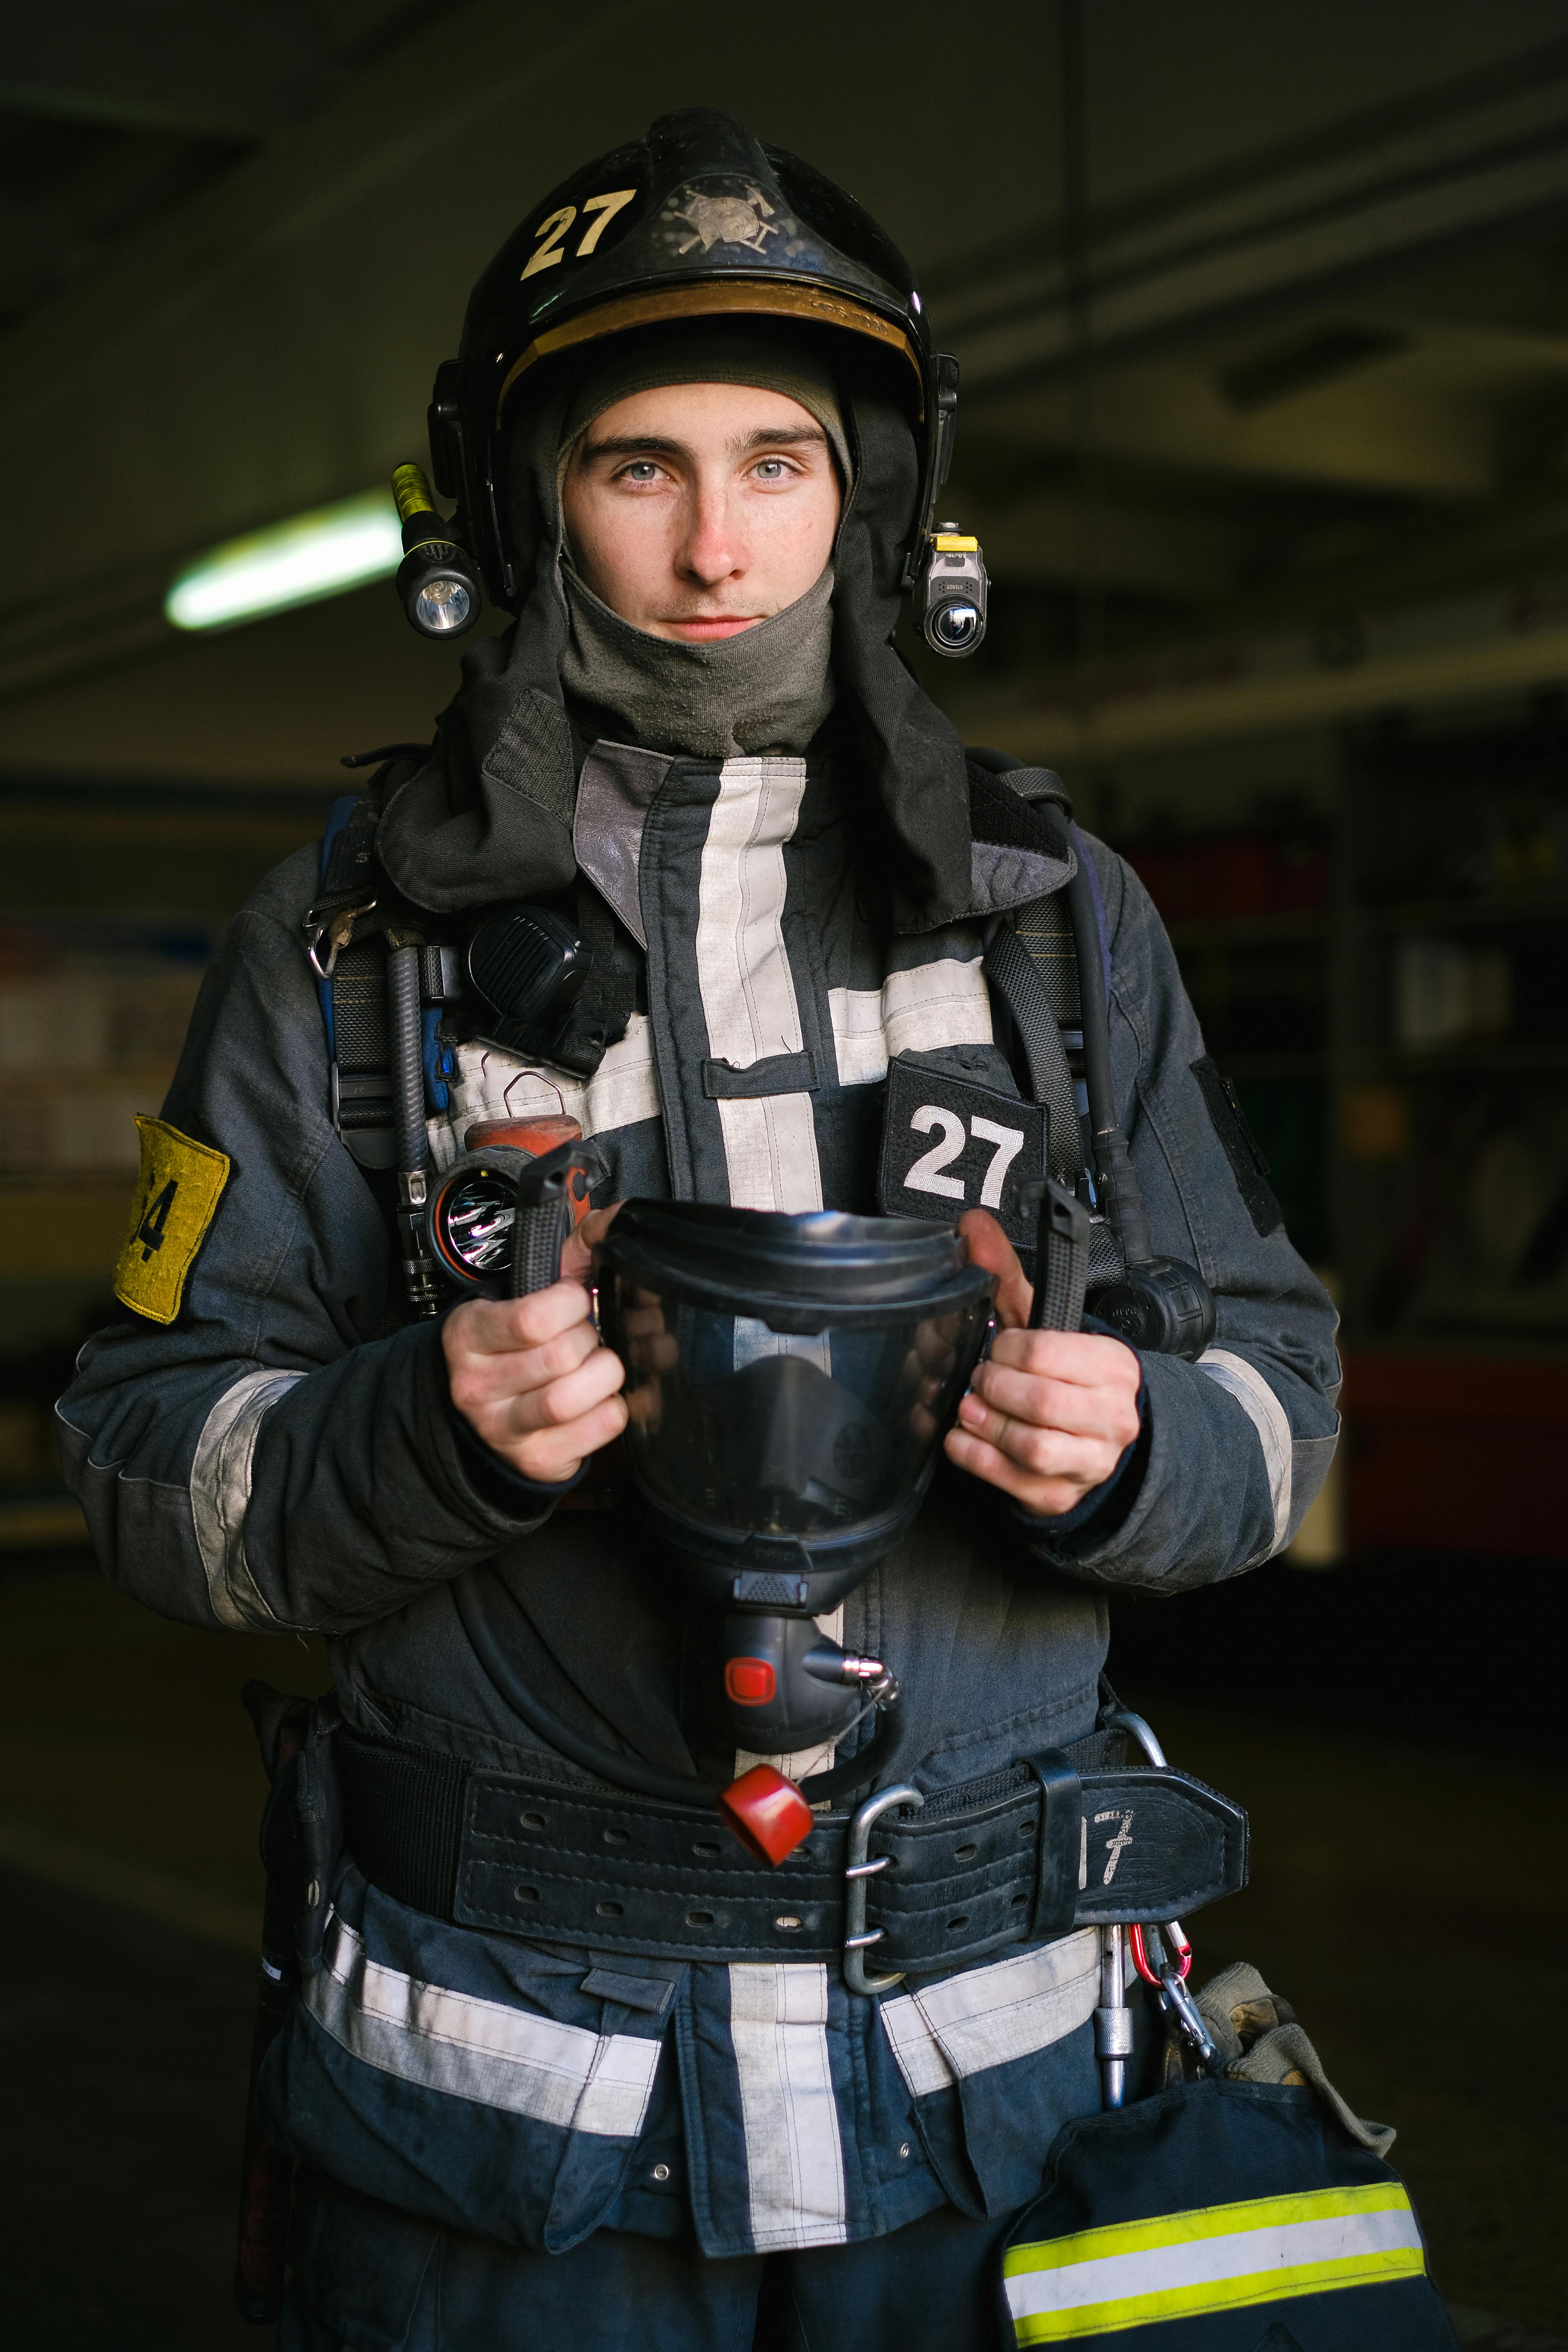
[[[710,2260],[599,2230],[569,2253],[463,2237],[303,2176],[277,2352],[997,2352],[1013,2213]]]

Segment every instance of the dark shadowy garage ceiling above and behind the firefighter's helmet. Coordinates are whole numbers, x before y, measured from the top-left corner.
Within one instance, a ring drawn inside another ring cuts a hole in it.
[[[489,252],[675,103],[846,181],[961,358],[952,508],[997,593],[943,684],[976,731],[1128,656],[1568,574],[1561,0],[129,19],[33,14],[0,64],[12,771],[320,776],[350,713],[428,722],[451,656],[386,588],[200,644],[162,588],[416,454]]]

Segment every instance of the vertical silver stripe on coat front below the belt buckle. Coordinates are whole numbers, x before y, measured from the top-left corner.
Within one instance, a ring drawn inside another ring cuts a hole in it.
[[[842,2246],[849,2223],[839,2103],[827,2063],[827,1969],[733,1962],[729,2039],[757,2253]]]

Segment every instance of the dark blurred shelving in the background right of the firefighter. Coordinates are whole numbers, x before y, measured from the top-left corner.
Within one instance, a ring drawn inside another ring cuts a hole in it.
[[[1338,739],[1312,814],[1124,844],[1333,1268],[1352,1548],[1556,1557],[1568,1444],[1568,710]],[[1486,1456],[1486,1470],[1479,1468]]]

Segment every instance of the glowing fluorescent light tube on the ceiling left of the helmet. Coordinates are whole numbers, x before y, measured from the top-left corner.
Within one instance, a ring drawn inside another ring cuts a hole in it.
[[[174,628],[228,628],[390,579],[400,562],[397,508],[388,492],[367,489],[209,548],[186,564],[162,609]]]

